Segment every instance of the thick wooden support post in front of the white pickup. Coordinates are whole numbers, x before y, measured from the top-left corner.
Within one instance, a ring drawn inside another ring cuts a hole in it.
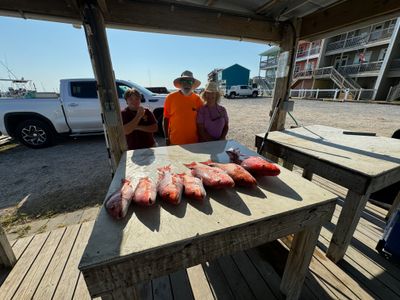
[[[97,81],[106,143],[109,147],[111,168],[114,174],[122,153],[126,151],[127,147],[104,18],[96,0],[85,1],[81,7],[81,13],[89,55]]]

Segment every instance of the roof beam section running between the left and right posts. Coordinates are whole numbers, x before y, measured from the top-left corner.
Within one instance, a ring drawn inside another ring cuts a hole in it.
[[[263,17],[244,17],[213,9],[163,2],[107,2],[109,27],[256,42],[281,40],[280,26]]]

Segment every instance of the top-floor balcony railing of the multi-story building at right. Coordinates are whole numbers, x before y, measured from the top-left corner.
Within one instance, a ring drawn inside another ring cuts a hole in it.
[[[353,48],[357,46],[364,46],[368,43],[373,43],[379,40],[386,40],[392,36],[394,27],[375,30],[371,33],[363,33],[345,40],[329,43],[326,46],[326,52],[335,51],[338,49]]]

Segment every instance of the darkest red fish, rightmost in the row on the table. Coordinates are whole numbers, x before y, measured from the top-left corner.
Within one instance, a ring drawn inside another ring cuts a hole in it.
[[[232,162],[241,165],[254,176],[277,176],[281,173],[276,164],[259,156],[246,156],[241,154],[239,149],[229,149],[226,153]]]

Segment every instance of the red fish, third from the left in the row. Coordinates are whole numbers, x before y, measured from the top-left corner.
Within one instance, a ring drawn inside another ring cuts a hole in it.
[[[165,166],[158,169],[158,195],[161,199],[178,205],[181,202],[183,183],[178,174],[171,172],[171,166]]]

